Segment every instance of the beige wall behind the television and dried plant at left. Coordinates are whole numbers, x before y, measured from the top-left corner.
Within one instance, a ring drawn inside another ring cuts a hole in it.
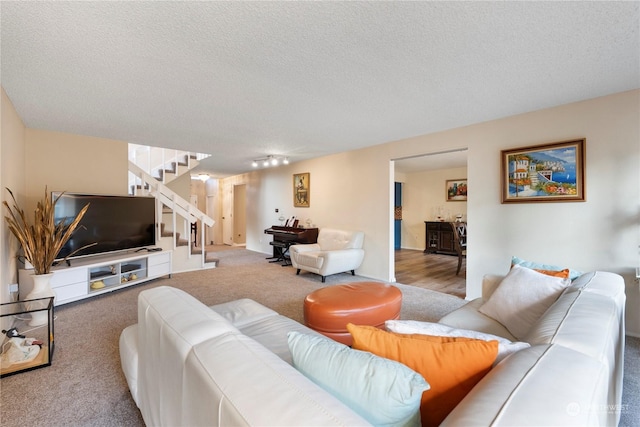
[[[127,194],[127,143],[25,128],[2,91],[2,187],[9,187],[27,215],[48,191]],[[5,191],[2,200],[6,200]],[[4,209],[3,209],[4,211]],[[2,221],[2,301],[17,283],[19,245]]]

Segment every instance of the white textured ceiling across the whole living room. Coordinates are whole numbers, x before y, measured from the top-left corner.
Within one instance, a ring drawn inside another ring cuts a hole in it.
[[[224,176],[638,88],[639,4],[2,1],[0,76],[30,128]]]

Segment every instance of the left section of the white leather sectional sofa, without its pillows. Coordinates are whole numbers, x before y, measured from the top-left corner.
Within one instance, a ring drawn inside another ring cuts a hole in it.
[[[252,300],[209,308],[171,287],[143,291],[120,357],[148,426],[360,426],[296,371],[288,331],[315,334]]]

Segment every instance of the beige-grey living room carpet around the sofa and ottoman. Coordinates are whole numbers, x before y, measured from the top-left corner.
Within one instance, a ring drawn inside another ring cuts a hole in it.
[[[184,289],[206,305],[252,298],[302,321],[302,301],[311,291],[367,279],[319,276],[270,264],[264,254],[245,249],[216,253],[219,268],[112,292],[56,308],[56,347],[49,367],[0,380],[0,424],[10,426],[143,426],[120,368],[118,338],[137,321],[137,296],[156,286]],[[403,292],[402,318],[436,321],[466,302],[457,297],[397,284]],[[640,396],[640,340],[628,338],[621,425],[637,426]],[[635,374],[633,374],[635,373]],[[629,400],[629,397],[631,400]],[[624,409],[624,408],[623,408]]]

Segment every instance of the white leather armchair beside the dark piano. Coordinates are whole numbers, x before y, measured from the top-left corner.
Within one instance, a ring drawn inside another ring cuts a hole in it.
[[[327,276],[345,271],[355,275],[364,259],[364,233],[321,228],[318,242],[307,245],[293,245],[289,248],[291,264],[297,269]]]

